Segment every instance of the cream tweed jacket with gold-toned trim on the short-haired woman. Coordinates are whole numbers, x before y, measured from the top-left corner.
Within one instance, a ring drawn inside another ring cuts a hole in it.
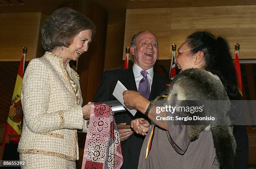
[[[21,101],[24,117],[18,152],[77,160],[77,130],[86,132],[88,124],[83,119],[79,76],[69,64],[64,68],[63,58],[51,52],[33,59],[23,78]]]

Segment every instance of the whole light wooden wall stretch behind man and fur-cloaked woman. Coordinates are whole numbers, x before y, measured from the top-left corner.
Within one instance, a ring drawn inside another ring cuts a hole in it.
[[[125,47],[139,30],[154,32],[159,40],[159,60],[171,59],[172,43],[177,47],[187,35],[209,30],[228,39],[233,57],[240,44],[240,59],[256,58],[256,5],[130,9],[126,12]]]

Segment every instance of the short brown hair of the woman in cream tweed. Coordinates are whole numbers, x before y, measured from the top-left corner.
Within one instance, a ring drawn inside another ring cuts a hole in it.
[[[82,13],[70,8],[59,8],[47,18],[42,27],[42,45],[46,51],[51,51],[55,46],[69,47],[74,36],[82,30],[92,30],[95,25]]]

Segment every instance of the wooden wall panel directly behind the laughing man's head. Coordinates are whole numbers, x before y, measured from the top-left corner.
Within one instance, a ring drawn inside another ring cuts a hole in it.
[[[126,10],[123,60],[125,47],[130,46],[132,36],[140,30],[151,30],[155,33],[161,46],[159,56],[169,56],[171,13],[170,8]]]

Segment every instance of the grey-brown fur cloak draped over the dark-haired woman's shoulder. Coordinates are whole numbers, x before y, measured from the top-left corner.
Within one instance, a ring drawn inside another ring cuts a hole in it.
[[[218,106],[210,106],[204,114],[214,112],[215,122],[210,122],[207,125],[190,125],[189,126],[189,139],[194,141],[198,138],[200,131],[211,130],[216,155],[221,169],[235,168],[236,159],[236,140],[233,136],[233,127],[227,123],[228,113],[230,110],[230,102],[228,101],[228,94],[225,87],[220,81],[218,76],[201,69],[187,69],[179,73],[172,85],[165,91],[168,93],[167,99],[161,101],[162,105],[170,105],[175,100],[188,101],[188,100],[215,100],[220,101]],[[157,97],[155,101],[161,100]],[[179,106],[178,102],[178,105]],[[176,103],[175,103],[176,106]]]

